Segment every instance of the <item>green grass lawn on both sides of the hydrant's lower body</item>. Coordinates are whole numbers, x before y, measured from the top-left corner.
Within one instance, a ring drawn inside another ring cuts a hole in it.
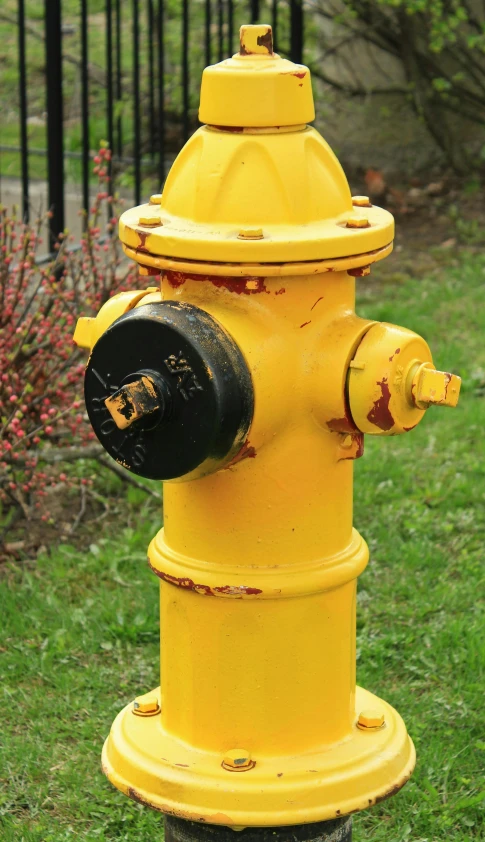
[[[484,839],[485,258],[426,277],[359,281],[360,312],[422,333],[464,379],[459,408],[409,436],[366,439],[355,523],[358,679],[395,705],[418,751],[411,782],[355,818],[355,842]],[[151,506],[151,504],[150,504]],[[158,588],[145,563],[155,508],[79,553],[52,547],[0,581],[0,839],[162,839],[160,817],[99,768],[116,712],[157,684]]]

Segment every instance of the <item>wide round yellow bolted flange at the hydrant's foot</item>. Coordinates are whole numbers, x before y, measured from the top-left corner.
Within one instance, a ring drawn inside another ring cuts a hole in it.
[[[159,696],[159,690],[154,691]],[[397,792],[411,776],[415,750],[401,717],[360,687],[356,711],[380,709],[385,727],[362,730],[320,752],[258,756],[254,768],[233,775],[221,755],[195,750],[163,727],[162,714],[116,717],[102,755],[112,784],[163,813],[225,826],[279,826],[325,821],[363,810]]]

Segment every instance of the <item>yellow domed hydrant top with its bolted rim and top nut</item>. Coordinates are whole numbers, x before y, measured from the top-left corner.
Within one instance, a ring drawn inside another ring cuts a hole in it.
[[[273,53],[271,27],[241,27],[240,54],[204,71],[206,125],[178,154],[163,194],[122,214],[126,253],[154,268],[167,259],[380,259],[393,217],[352,201],[336,155],[307,125],[313,118],[308,68]]]

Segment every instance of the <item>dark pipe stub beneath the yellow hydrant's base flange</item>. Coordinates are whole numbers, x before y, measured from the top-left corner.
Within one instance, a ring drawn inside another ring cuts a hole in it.
[[[165,842],[352,842],[352,817],[287,827],[230,827],[165,816]]]

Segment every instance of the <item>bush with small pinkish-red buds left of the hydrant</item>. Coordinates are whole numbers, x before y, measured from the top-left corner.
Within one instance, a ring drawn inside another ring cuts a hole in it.
[[[79,315],[92,315],[121,289],[139,284],[124,262],[116,224],[120,202],[109,194],[110,152],[94,159],[98,193],[83,212],[80,248],[59,237],[55,257],[36,262],[45,218],[26,225],[0,208],[0,503],[12,517],[47,519],[49,487],[73,480],[59,466],[89,455],[94,438],[83,411],[85,355],[72,335]],[[109,221],[103,225],[103,218]],[[47,213],[49,218],[50,214]],[[87,482],[87,480],[83,480]]]

